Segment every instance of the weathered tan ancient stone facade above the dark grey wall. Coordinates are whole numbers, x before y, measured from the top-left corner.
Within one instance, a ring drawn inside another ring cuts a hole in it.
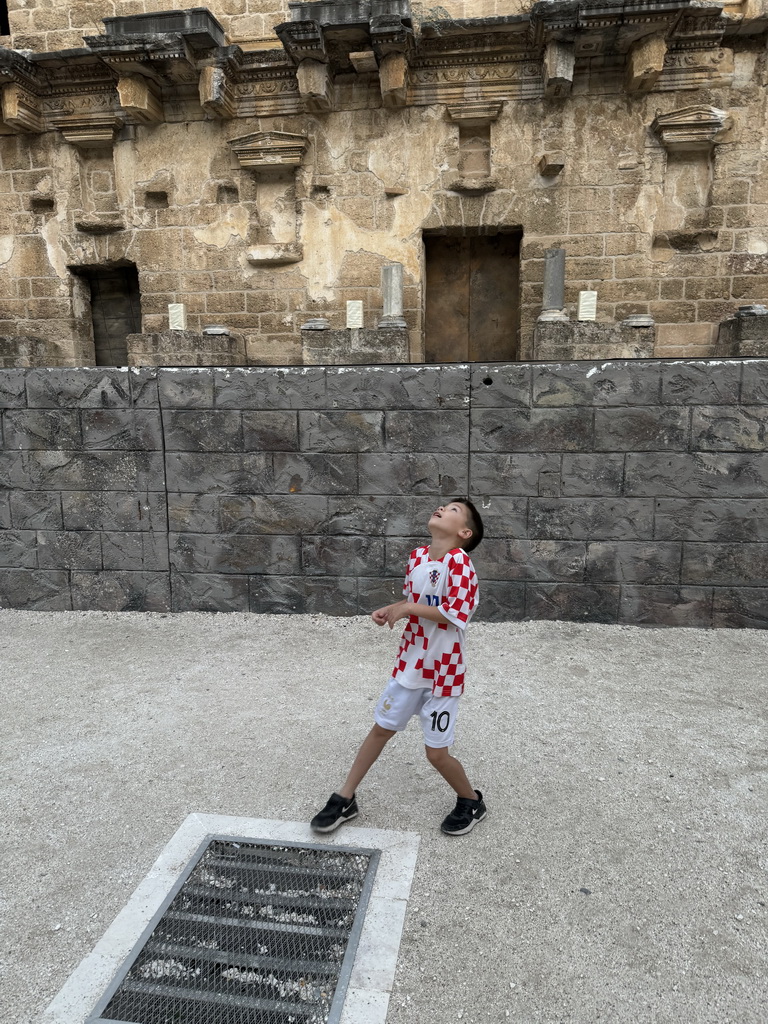
[[[386,46],[373,23],[339,43],[353,4],[307,3],[338,11],[329,40],[316,23],[327,63],[278,38],[301,14],[278,0],[213,5],[217,45],[199,50],[105,34],[101,18],[153,6],[10,3],[0,335],[48,341],[49,364],[94,362],[98,268],[135,268],[143,333],[183,303],[188,330],[223,325],[245,362],[285,365],[303,360],[302,324],[343,328],[348,300],[374,327],[391,262],[421,360],[430,233],[521,238],[509,358],[534,355],[550,248],[569,315],[582,290],[599,323],[650,314],[657,356],[713,355],[720,323],[768,299],[768,0],[662,4],[657,31],[633,0],[607,22],[421,4]]]

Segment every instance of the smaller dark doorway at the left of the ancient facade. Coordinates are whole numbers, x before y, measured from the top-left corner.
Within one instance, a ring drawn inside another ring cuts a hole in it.
[[[141,333],[138,270],[132,263],[72,269],[79,276],[85,278],[90,288],[95,365],[127,366],[126,338],[129,334]]]

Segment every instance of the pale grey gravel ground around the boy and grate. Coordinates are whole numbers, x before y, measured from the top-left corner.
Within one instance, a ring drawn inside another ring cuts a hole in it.
[[[322,615],[0,611],[0,1006],[35,1024],[193,811],[305,820],[397,636]],[[355,824],[421,850],[388,1024],[765,1024],[768,633],[476,624],[456,753]],[[339,833],[343,837],[343,830]]]

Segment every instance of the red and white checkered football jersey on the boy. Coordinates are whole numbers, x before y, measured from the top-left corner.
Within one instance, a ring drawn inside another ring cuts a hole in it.
[[[462,548],[439,560],[429,557],[428,547],[417,548],[408,561],[402,594],[407,601],[438,607],[449,622],[410,615],[392,678],[410,689],[458,697],[464,692],[464,630],[478,600],[472,559]]]

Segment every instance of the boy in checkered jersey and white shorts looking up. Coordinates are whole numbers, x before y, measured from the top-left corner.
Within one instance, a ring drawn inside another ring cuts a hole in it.
[[[432,543],[411,552],[402,589],[404,600],[378,608],[371,616],[390,630],[408,618],[389,680],[346,781],[310,822],[329,833],[357,816],[355,790],[389,739],[418,715],[427,760],[456,791],[455,809],[440,825],[449,836],[464,836],[486,814],[449,748],[459,695],[464,690],[464,630],[477,607],[477,577],[468,552],[482,540],[482,521],[467,498],[455,498],[430,517]]]

